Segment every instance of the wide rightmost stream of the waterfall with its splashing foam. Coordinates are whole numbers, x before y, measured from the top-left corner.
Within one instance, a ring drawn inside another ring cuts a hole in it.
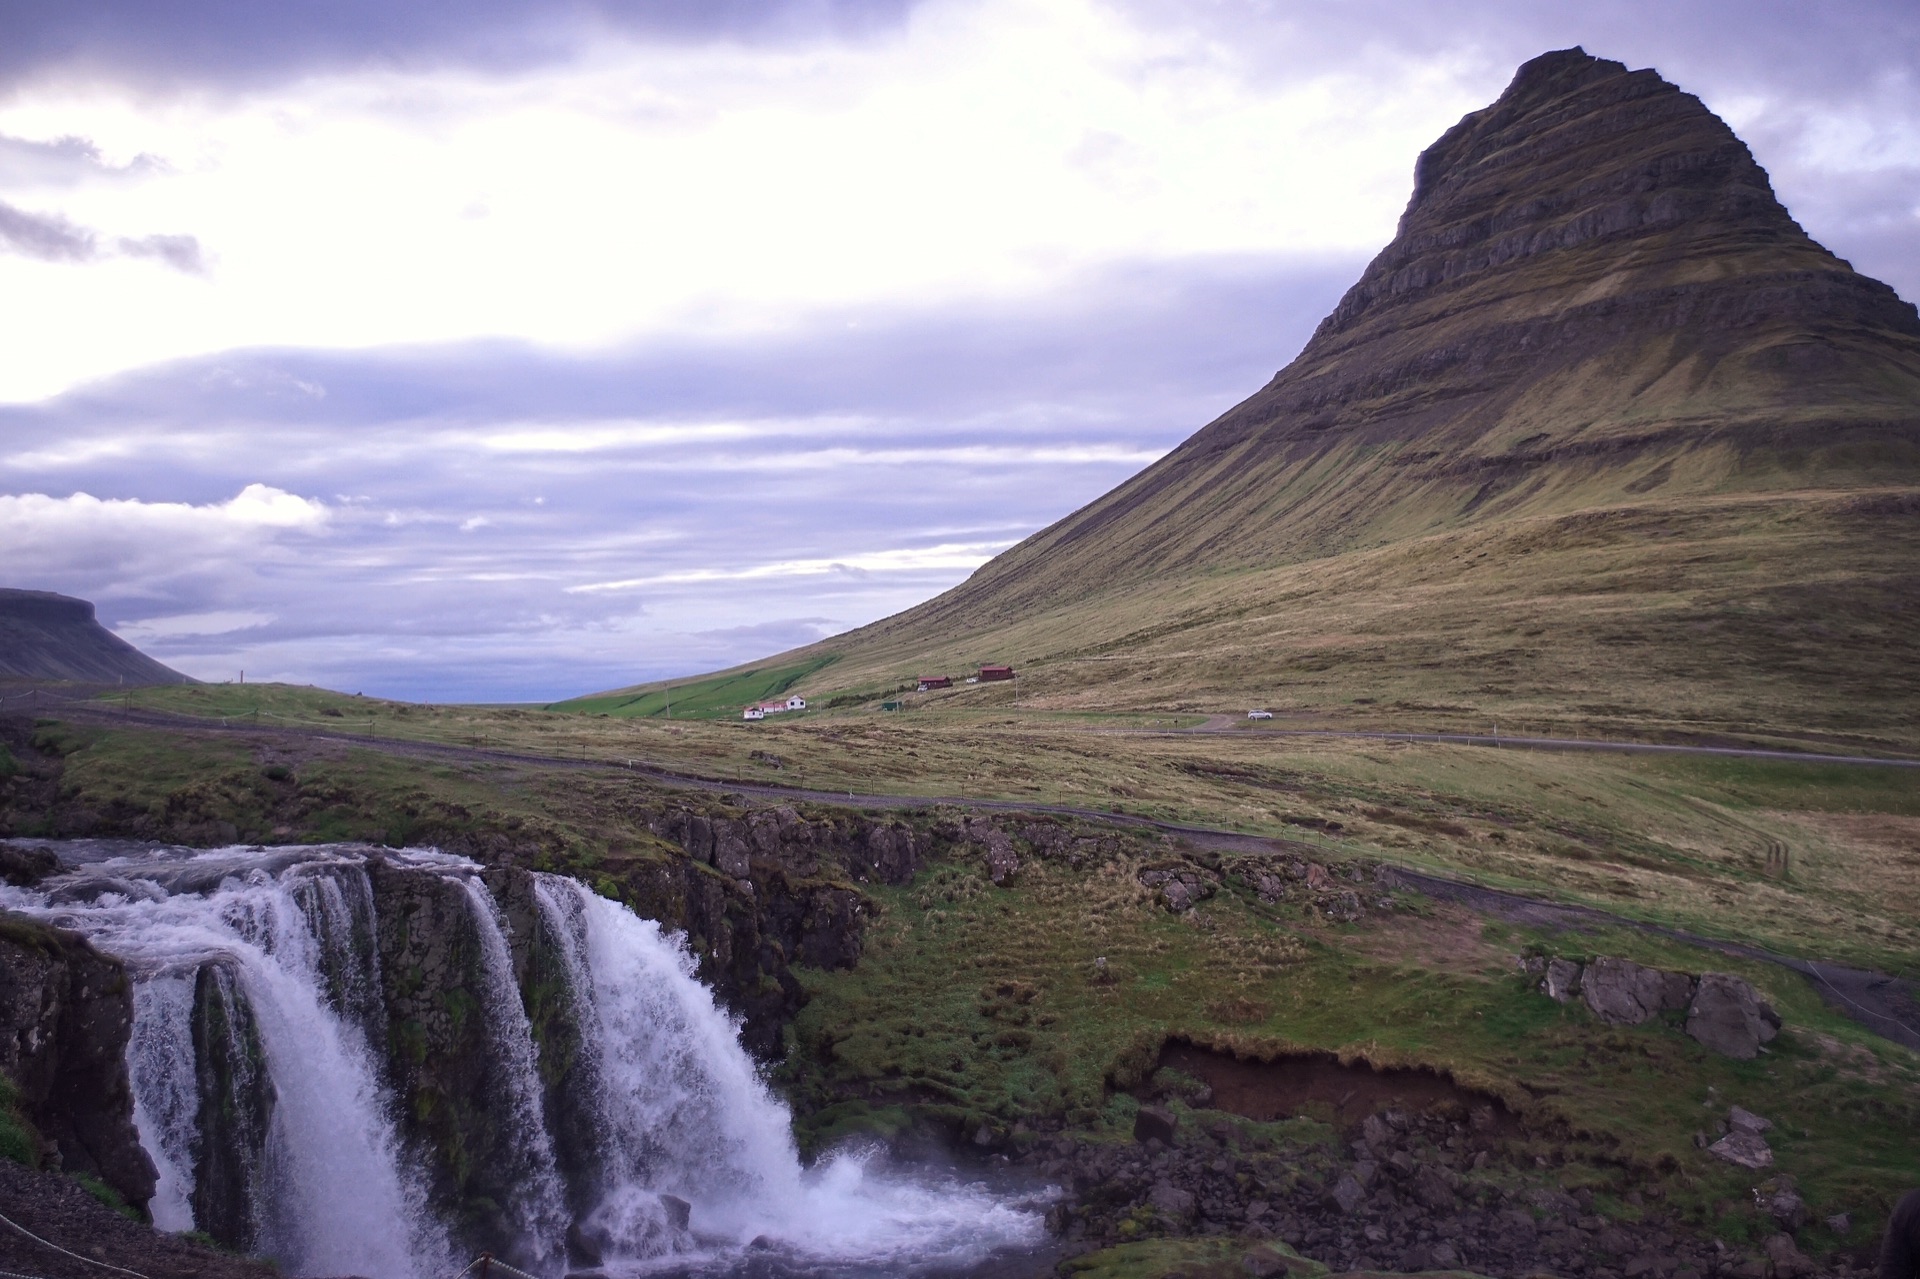
[[[760,1241],[803,1260],[912,1269],[1039,1241],[1031,1208],[952,1177],[881,1171],[858,1154],[803,1170],[791,1114],[685,947],[572,880],[541,876],[540,899],[568,939],[578,1016],[597,1045],[591,1104],[609,1148],[588,1225],[612,1256],[720,1260]],[[660,1193],[691,1204],[689,1231],[664,1223]]]

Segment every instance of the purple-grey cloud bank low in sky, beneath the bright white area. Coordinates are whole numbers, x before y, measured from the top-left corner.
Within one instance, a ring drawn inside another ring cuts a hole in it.
[[[92,597],[196,674],[349,691],[557,697],[749,661],[937,593],[1139,471],[1357,269],[1133,263],[599,355],[136,371],[0,407],[0,494],[46,495],[17,526],[69,530],[15,547],[6,584]],[[273,492],[238,501],[252,484]]]

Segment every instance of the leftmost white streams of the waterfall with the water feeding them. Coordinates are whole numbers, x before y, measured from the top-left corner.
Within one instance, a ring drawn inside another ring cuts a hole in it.
[[[50,895],[15,891],[8,905],[84,933],[134,976],[129,1066],[142,1141],[165,1177],[156,1208],[167,1225],[192,1221],[188,1191],[202,1156],[186,1110],[194,974],[227,964],[275,1089],[259,1248],[303,1275],[445,1273],[445,1237],[401,1171],[378,1064],[359,1027],[323,1001],[321,947],[296,889],[324,874],[365,870],[357,858],[305,849],[280,858],[240,849],[129,857],[98,862]],[[365,966],[367,956],[340,962]]]

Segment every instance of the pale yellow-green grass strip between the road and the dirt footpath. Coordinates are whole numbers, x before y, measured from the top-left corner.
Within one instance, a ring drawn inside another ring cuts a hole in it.
[[[134,701],[718,780],[1073,805],[1279,835],[1786,954],[1920,972],[1920,785],[1901,768],[1177,734],[1148,724],[1177,718],[1165,714],[973,711],[937,697],[902,714],[841,709],[762,724],[419,707],[282,686],[144,689]]]

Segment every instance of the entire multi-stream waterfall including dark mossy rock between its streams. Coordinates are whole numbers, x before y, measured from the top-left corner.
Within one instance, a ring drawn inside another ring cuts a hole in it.
[[[682,939],[561,876],[532,876],[528,903],[515,874],[522,905],[503,910],[474,862],[432,851],[142,849],[40,889],[0,885],[0,905],[129,966],[156,1223],[294,1275],[442,1279],[476,1239],[553,1279],[568,1250],[612,1273],[732,1269],[751,1250],[768,1273],[881,1275],[1039,1237],[1031,1204],[956,1177],[858,1154],[803,1168],[791,1114]],[[438,970],[405,949],[428,916],[447,933],[428,951]],[[401,956],[392,972],[382,953]],[[468,1081],[482,1152],[438,1164],[396,1093],[428,1039],[390,1029],[426,995],[468,1033],[457,1043],[480,1045],[476,1070],[453,1062],[436,1081]],[[503,1195],[449,1189],[445,1168],[470,1158]]]

